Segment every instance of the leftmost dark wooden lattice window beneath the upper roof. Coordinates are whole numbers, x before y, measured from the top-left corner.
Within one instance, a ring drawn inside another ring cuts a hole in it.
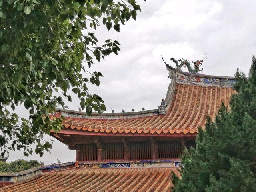
[[[96,144],[82,144],[80,161],[96,161],[98,148]]]

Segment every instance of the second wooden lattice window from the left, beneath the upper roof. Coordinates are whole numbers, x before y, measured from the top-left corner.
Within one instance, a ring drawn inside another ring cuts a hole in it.
[[[103,159],[124,159],[122,142],[103,143]]]

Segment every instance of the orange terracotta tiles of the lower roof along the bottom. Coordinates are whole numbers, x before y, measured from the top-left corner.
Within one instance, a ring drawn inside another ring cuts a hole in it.
[[[0,187],[1,192],[167,192],[175,168],[73,168]]]

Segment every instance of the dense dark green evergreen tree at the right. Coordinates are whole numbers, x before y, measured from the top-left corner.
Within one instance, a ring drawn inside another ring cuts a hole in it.
[[[208,117],[199,129],[196,150],[182,157],[181,178],[174,176],[173,192],[256,191],[256,60],[249,77],[237,70],[228,110],[220,108],[216,121]]]

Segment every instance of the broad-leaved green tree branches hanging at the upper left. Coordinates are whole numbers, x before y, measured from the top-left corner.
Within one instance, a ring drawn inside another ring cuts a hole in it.
[[[119,42],[99,44],[94,33],[101,20],[106,28],[120,31],[140,6],[135,0],[0,0],[0,148],[43,155],[52,146],[43,134],[61,129],[61,118],[50,120],[56,106],[71,101],[69,89],[90,115],[106,110],[102,98],[91,95],[87,84],[100,85],[100,72],[87,68],[111,53],[118,54]],[[89,77],[84,77],[82,72]],[[54,91],[62,92],[55,96]],[[23,104],[29,119],[15,110]],[[8,149],[7,149],[8,147]]]

